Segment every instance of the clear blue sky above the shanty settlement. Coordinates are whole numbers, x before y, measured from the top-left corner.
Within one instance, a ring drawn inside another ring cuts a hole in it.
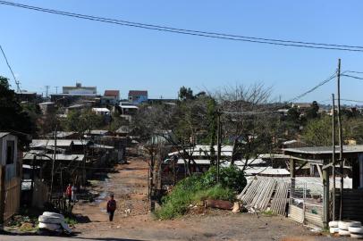
[[[57,10],[200,29],[363,46],[363,1],[17,1]],[[268,46],[190,37],[101,22],[74,20],[0,5],[0,43],[21,88],[97,86],[97,91],[148,89],[150,97],[176,97],[181,86],[196,92],[261,82],[283,100],[298,96],[342,69],[363,71],[363,53]],[[0,74],[12,79],[4,59]],[[60,88],[58,88],[59,90]],[[342,98],[363,100],[363,80],[342,79]],[[300,101],[323,101],[332,81]]]

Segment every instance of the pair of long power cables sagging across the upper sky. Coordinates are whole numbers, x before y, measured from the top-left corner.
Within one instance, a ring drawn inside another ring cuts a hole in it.
[[[85,14],[79,14],[79,13],[73,13],[73,12],[63,12],[63,11],[57,11],[57,10],[52,10],[52,9],[40,8],[37,6],[31,6],[31,5],[26,5],[26,4],[16,4],[13,2],[7,2],[7,1],[0,1],[0,4],[11,5],[14,7],[20,7],[20,8],[38,11],[38,12],[48,12],[48,13],[53,13],[53,14],[58,14],[58,15],[63,15],[63,16],[68,16],[68,17],[73,17],[73,18],[78,18],[78,19],[85,19],[85,20],[90,20],[90,21],[101,21],[101,22],[113,23],[113,24],[140,28],[140,29],[152,29],[152,30],[172,32],[172,33],[198,36],[198,37],[212,37],[212,38],[219,38],[219,39],[225,39],[225,40],[234,40],[234,41],[258,43],[258,44],[266,44],[266,45],[274,45],[274,46],[295,46],[295,47],[327,49],[327,50],[363,52],[363,46],[347,46],[347,45],[311,43],[311,42],[282,40],[282,39],[263,38],[263,37],[246,37],[246,36],[231,35],[231,34],[224,34],[224,33],[199,31],[199,30],[177,29],[177,28],[145,24],[145,23],[139,23],[139,22],[133,22],[133,21],[114,20],[114,19],[97,17],[97,16],[92,16],[92,15],[85,15]]]

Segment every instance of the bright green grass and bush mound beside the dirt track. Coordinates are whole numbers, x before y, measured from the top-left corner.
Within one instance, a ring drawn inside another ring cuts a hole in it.
[[[243,172],[235,167],[221,169],[219,184],[215,177],[216,170],[211,168],[203,175],[193,175],[180,181],[172,193],[163,198],[161,208],[156,210],[156,217],[173,219],[187,212],[190,204],[198,204],[206,199],[233,201],[235,195],[246,185]]]

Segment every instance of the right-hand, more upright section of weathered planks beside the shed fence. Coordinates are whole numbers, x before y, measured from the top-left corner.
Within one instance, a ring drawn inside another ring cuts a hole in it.
[[[271,211],[284,215],[286,204],[289,203],[289,190],[290,190],[290,183],[288,182],[278,182],[276,187],[276,192],[274,193],[274,197],[271,201]]]

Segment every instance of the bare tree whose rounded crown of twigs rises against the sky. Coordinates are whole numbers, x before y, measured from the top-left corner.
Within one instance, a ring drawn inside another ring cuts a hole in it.
[[[258,154],[270,152],[274,137],[274,114],[254,114],[271,111],[268,104],[271,89],[262,84],[249,87],[225,87],[216,94],[223,115],[224,135],[232,142],[231,165],[237,158],[246,160],[243,169],[254,162]]]

